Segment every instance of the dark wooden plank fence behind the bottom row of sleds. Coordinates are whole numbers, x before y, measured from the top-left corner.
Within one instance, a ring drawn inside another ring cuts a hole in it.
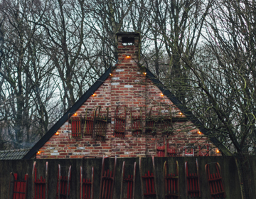
[[[215,163],[218,162],[221,168],[220,175],[223,178],[226,198],[240,199],[240,181],[238,178],[238,169],[235,159],[232,156],[210,156],[210,157],[174,157],[174,158],[154,158],[157,198],[164,198],[164,162],[168,166],[169,173],[176,173],[176,161],[178,161],[178,195],[179,198],[186,197],[186,170],[185,163],[188,162],[189,172],[196,173],[196,159],[198,159],[198,181],[201,189],[201,198],[212,198],[208,184],[208,176],[206,175],[206,164],[209,163],[210,172],[214,173]],[[256,158],[252,157],[251,161],[256,166]],[[84,158],[84,159],[43,159],[43,160],[15,160],[0,161],[0,198],[9,197],[9,181],[10,173],[17,173],[18,180],[23,180],[24,175],[28,173],[28,185],[26,198],[33,198],[33,179],[32,170],[33,162],[36,161],[37,178],[46,176],[46,161],[48,161],[48,198],[56,198],[58,184],[58,165],[60,165],[61,176],[68,176],[68,169],[71,166],[70,174],[70,193],[68,198],[80,198],[80,166],[82,166],[82,178],[91,178],[92,166],[94,167],[93,181],[93,198],[100,198],[100,178],[102,172],[102,158]],[[141,178],[139,172],[139,158],[117,158],[113,198],[120,198],[122,185],[122,166],[125,161],[124,176],[134,172],[134,162],[136,162],[136,178],[134,195],[135,198],[142,198],[142,193],[146,193],[146,185],[144,190],[141,188]],[[153,173],[152,158],[142,158],[141,161],[142,175],[150,171]],[[256,167],[254,167],[256,168]],[[105,159],[105,171],[114,169],[114,158]],[[254,169],[255,170],[255,169]],[[252,173],[254,175],[254,173]],[[256,178],[253,178],[256,179]],[[145,182],[144,182],[145,183]],[[252,189],[255,191],[255,182],[252,183]],[[132,191],[132,190],[131,190]],[[125,191],[123,191],[124,193]],[[132,192],[131,192],[132,193]],[[92,195],[92,193],[90,193]],[[256,194],[255,194],[256,195]],[[124,198],[124,197],[123,197]],[[149,198],[156,198],[156,195],[149,195]],[[191,197],[189,197],[191,198]],[[198,197],[197,197],[198,198]]]

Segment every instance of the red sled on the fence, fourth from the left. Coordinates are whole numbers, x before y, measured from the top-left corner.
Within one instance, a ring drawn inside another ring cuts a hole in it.
[[[80,199],[93,198],[94,168],[92,166],[91,179],[82,178],[82,166],[80,166]]]

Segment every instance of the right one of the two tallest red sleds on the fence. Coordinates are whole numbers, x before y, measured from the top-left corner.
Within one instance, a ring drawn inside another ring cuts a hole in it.
[[[154,156],[152,156],[152,163],[153,163],[153,173],[147,171],[144,176],[142,176],[142,158],[139,158],[139,173],[141,178],[141,185],[142,185],[142,199],[144,197],[151,197],[158,199],[157,187],[156,187],[156,169],[154,166]],[[144,191],[144,184],[146,189]]]

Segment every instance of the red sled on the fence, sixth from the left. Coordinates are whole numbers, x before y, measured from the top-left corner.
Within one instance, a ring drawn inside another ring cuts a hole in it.
[[[121,176],[121,195],[120,199],[134,199],[135,197],[135,175],[136,175],[136,162],[134,162],[133,174],[128,174],[127,178],[124,177],[124,166],[125,161],[122,166],[122,176]],[[124,183],[126,185],[124,185]],[[124,186],[127,187],[127,197],[125,197]],[[124,196],[123,196],[124,195]]]

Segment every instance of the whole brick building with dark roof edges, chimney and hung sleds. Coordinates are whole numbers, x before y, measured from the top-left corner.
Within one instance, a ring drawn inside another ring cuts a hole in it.
[[[24,158],[220,155],[225,146],[208,139],[193,114],[139,64],[139,33],[117,33],[117,41],[117,64]]]

